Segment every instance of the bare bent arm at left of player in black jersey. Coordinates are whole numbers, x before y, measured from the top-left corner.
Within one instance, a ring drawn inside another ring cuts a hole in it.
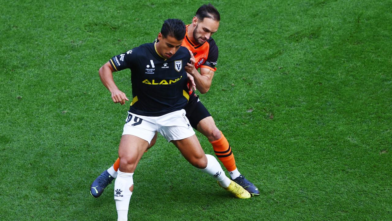
[[[114,70],[110,65],[109,61],[106,64],[103,64],[99,69],[99,76],[103,85],[109,90],[112,94],[112,99],[114,103],[120,103],[121,105],[125,104],[125,101],[129,101],[124,92],[119,90],[114,83],[113,73]]]

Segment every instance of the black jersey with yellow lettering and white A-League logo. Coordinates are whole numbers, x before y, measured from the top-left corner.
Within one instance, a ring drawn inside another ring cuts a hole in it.
[[[132,102],[130,112],[143,116],[162,116],[183,109],[189,95],[185,65],[191,56],[185,47],[169,59],[156,52],[154,43],[142,44],[109,61],[114,70],[131,69]]]

